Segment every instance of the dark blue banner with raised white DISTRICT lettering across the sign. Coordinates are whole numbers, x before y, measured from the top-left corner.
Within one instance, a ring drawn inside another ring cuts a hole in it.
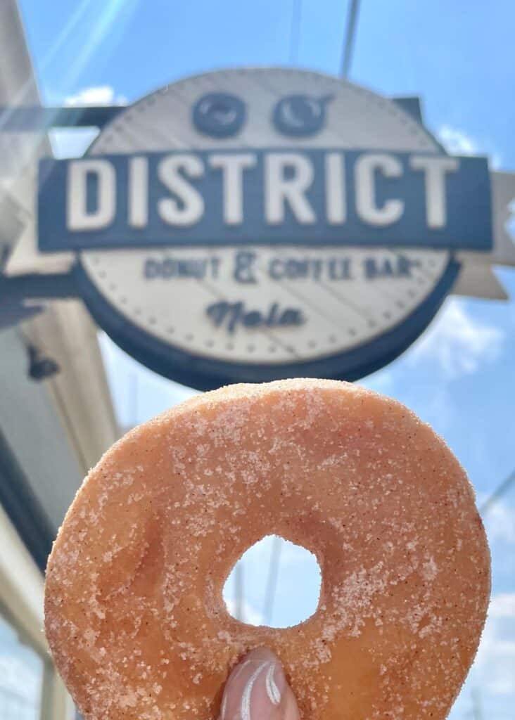
[[[489,251],[488,161],[303,148],[40,163],[40,251],[259,243]]]

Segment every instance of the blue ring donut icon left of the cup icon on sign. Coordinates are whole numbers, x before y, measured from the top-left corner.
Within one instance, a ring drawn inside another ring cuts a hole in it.
[[[213,92],[202,95],[194,104],[192,120],[202,135],[211,138],[230,138],[245,122],[245,104],[236,95]]]

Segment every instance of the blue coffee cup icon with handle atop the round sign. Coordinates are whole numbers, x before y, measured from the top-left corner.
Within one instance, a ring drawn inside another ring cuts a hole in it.
[[[276,130],[292,138],[307,138],[323,130],[326,106],[333,95],[315,98],[309,95],[288,95],[274,107],[273,122]]]

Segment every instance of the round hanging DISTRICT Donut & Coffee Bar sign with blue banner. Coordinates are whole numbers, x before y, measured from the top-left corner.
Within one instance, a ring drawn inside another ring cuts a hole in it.
[[[187,78],[40,163],[38,250],[76,253],[99,325],[167,377],[362,377],[465,266],[513,261],[505,185],[416,109],[292,69]]]

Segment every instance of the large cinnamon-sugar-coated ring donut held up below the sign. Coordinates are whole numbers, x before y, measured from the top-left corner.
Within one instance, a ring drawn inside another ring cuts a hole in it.
[[[317,610],[286,629],[243,624],[222,597],[270,534],[321,568]],[[444,441],[394,400],[295,379],[207,392],[112,446],[53,546],[45,631],[87,720],[215,719],[261,646],[305,720],[440,720],[489,590],[473,490]]]

